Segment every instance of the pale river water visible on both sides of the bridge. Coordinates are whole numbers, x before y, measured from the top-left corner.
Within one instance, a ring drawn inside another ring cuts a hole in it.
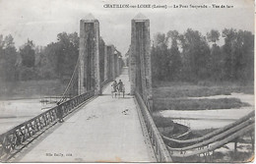
[[[217,109],[198,111],[165,110],[160,111],[163,117],[171,118],[174,122],[186,125],[191,130],[221,128],[254,110],[254,95],[232,93],[231,95],[216,95],[199,98],[230,98],[235,97],[251,106],[239,109]],[[0,134],[31,119],[32,117],[53,107],[55,104],[42,104],[41,99],[0,100]]]

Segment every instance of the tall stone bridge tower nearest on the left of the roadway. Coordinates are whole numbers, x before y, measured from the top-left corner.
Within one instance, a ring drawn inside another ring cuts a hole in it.
[[[79,94],[101,94],[99,76],[99,23],[93,15],[80,21]]]

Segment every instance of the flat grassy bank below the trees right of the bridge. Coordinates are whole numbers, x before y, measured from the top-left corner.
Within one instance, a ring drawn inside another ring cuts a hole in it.
[[[239,82],[154,82],[154,97],[202,97],[230,95],[232,92],[254,94],[254,83]]]

